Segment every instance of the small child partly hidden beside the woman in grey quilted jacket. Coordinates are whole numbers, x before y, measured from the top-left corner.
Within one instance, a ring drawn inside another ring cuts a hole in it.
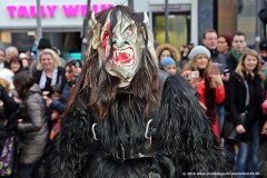
[[[51,98],[52,100],[60,100],[61,99],[61,86],[60,85],[55,85],[50,87],[48,98]],[[52,128],[50,132],[50,140],[53,139],[53,137],[57,135],[60,128],[60,113],[57,110],[52,110],[51,115],[51,122],[52,122]]]

